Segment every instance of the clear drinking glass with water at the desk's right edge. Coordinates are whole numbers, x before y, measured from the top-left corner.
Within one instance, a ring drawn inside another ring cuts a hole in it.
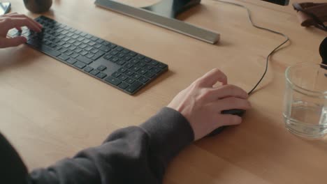
[[[298,63],[286,69],[284,121],[286,128],[307,139],[327,133],[327,66]]]

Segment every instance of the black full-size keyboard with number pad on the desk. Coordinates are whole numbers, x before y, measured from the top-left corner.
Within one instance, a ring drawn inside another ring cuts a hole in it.
[[[48,17],[37,17],[36,22],[43,25],[41,33],[23,27],[10,30],[8,36],[25,36],[34,49],[131,95],[168,70],[165,63]]]

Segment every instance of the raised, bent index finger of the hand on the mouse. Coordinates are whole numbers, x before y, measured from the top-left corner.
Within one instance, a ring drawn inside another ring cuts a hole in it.
[[[198,82],[200,86],[203,87],[212,87],[217,82],[221,82],[223,85],[227,84],[227,76],[224,74],[224,72],[221,72],[221,70],[215,68],[213,70],[210,70],[210,72],[207,72],[203,77],[198,79]]]

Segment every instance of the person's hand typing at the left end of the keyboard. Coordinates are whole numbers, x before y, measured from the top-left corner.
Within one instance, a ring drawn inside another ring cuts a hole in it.
[[[22,26],[27,26],[27,28],[32,31],[41,32],[42,25],[38,24],[26,15],[9,13],[0,16],[0,48],[5,47],[15,47],[22,43],[26,43],[27,39],[24,36],[17,36],[15,38],[6,38],[7,33],[10,29],[16,28],[21,31]]]

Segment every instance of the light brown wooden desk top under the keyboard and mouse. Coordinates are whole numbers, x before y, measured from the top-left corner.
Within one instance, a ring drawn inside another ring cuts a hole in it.
[[[13,12],[26,13],[22,0]],[[154,1],[125,1],[145,6]],[[287,47],[273,55],[268,75],[249,99],[242,125],[202,139],[170,164],[164,183],[324,183],[327,142],[291,135],[282,118],[284,70],[302,61],[319,63],[327,36],[304,29],[291,8],[262,1],[235,1],[252,10],[254,22],[286,33]],[[94,6],[88,0],[54,0],[45,13],[68,24],[168,63],[170,70],[135,96],[126,95],[25,45],[0,50],[0,130],[29,169],[47,167],[77,151],[101,144],[110,132],[138,125],[212,68],[249,91],[265,57],[283,38],[254,29],[242,8],[210,0],[180,16],[216,30],[210,45]]]

